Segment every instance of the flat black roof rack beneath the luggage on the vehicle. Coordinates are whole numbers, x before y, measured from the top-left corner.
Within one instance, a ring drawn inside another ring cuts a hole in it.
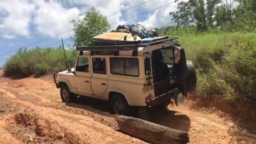
[[[77,51],[138,51],[139,47],[145,47],[160,43],[166,43],[178,39],[178,37],[170,37],[160,41],[155,41],[151,43],[140,43],[140,44],[130,44],[130,45],[99,45],[99,46],[76,46]]]

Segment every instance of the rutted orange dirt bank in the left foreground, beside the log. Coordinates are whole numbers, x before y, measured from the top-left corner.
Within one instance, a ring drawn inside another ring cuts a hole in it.
[[[14,137],[24,143],[145,143],[90,117],[37,106],[13,98],[3,89],[0,92],[1,105],[11,109],[3,117],[10,139]]]

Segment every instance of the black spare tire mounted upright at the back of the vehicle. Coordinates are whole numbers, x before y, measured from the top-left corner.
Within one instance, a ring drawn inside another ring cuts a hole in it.
[[[191,60],[187,60],[187,67],[187,91],[193,92],[196,90],[196,70]]]

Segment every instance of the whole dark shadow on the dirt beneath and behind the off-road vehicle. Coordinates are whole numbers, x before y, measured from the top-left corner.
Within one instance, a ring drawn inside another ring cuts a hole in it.
[[[76,104],[77,105],[71,105],[70,103],[67,103],[66,105],[69,107],[88,110],[107,117],[116,117],[116,115],[109,113],[110,109],[107,101],[82,96],[77,98]],[[134,108],[134,110],[137,109]],[[131,116],[139,118],[137,113],[134,113]],[[169,109],[148,108],[147,116],[143,117],[143,119],[181,131],[188,132],[190,129],[190,119],[187,115],[182,115],[179,114],[178,111]]]

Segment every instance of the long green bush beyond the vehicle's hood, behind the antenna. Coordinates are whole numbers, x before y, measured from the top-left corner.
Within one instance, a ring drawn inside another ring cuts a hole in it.
[[[74,66],[77,52],[66,50],[67,62]],[[27,77],[30,75],[41,76],[65,70],[66,63],[62,49],[48,47],[33,50],[20,49],[15,55],[6,61],[4,75]]]

